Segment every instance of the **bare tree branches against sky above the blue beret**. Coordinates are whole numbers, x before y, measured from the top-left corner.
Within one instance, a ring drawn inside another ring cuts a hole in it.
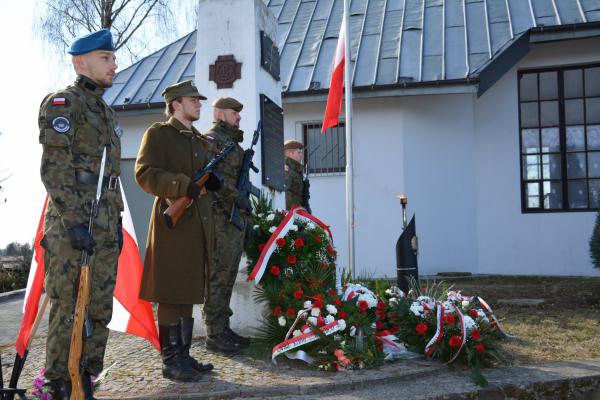
[[[188,33],[196,22],[195,18],[187,17],[195,11],[194,2],[189,0],[40,0],[40,3],[35,30],[59,54],[65,54],[75,37],[108,28],[115,47],[121,50],[120,57],[135,62],[149,51]],[[180,32],[180,28],[185,31]]]

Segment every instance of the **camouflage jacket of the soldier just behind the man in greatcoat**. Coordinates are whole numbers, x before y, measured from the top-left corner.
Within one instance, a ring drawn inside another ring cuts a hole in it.
[[[225,122],[217,121],[213,127],[203,134],[211,138],[213,146],[212,151],[216,155],[229,142],[238,143],[235,149],[223,159],[218,165],[217,171],[223,176],[223,186],[217,192],[214,192],[215,205],[217,208],[226,212],[231,211],[231,207],[239,192],[236,189],[237,181],[244,160],[244,149],[239,145],[244,140],[244,132]]]

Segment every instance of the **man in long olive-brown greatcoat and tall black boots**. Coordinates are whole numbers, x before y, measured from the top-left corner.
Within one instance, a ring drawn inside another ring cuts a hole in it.
[[[165,89],[166,122],[153,124],[142,139],[135,163],[135,178],[141,188],[155,196],[140,297],[158,303],[158,324],[165,378],[194,381],[212,370],[189,355],[194,304],[204,302],[205,274],[212,261],[213,231],[211,199],[192,177],[211,159],[210,141],[192,125],[200,118],[200,100],[192,81]],[[170,200],[193,199],[179,222],[169,228],[163,212]]]

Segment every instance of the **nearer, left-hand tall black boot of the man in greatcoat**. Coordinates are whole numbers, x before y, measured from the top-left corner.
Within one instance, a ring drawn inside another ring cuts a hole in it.
[[[181,342],[181,322],[170,326],[160,325],[158,328],[163,377],[179,382],[199,380],[202,375],[190,366],[188,359],[184,356]]]

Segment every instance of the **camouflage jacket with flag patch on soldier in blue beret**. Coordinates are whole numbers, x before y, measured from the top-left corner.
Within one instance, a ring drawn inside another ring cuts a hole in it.
[[[41,179],[48,192],[46,215],[60,216],[65,227],[85,223],[96,184],[82,183],[77,172],[98,175],[106,147],[104,176],[121,173],[121,134],[115,112],[104,102],[104,89],[79,75],[75,83],[48,94],[40,105]],[[123,210],[118,191],[104,191],[113,220]],[[103,208],[102,205],[100,207]]]

